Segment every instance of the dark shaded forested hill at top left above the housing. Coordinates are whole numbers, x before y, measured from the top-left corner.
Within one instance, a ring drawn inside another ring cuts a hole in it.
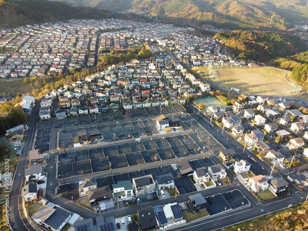
[[[62,2],[0,0],[0,27],[80,18],[121,18],[140,22],[151,21],[149,18],[137,14],[119,14],[110,10],[68,6]]]

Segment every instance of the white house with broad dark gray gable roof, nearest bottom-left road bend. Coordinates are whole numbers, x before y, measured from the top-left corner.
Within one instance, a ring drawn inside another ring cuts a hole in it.
[[[42,206],[31,218],[37,224],[44,225],[47,229],[59,231],[67,224],[71,216],[70,212],[60,207],[54,209]]]

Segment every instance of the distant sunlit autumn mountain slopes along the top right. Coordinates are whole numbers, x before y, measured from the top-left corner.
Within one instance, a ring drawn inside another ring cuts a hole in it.
[[[157,19],[243,30],[287,30],[308,20],[304,0],[134,0],[132,9]]]

